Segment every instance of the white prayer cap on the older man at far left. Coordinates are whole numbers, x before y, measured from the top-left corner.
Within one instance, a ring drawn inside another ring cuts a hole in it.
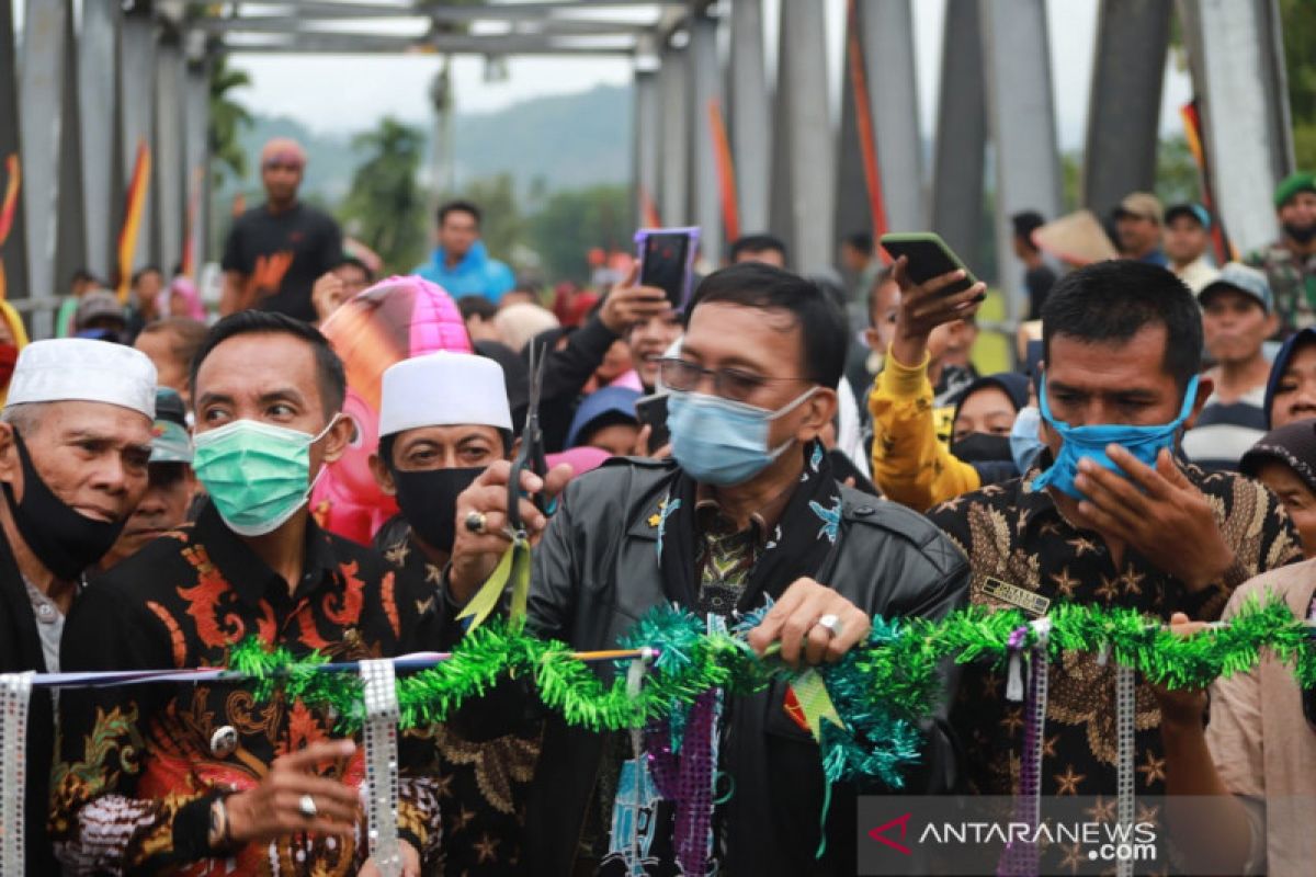
[[[107,402],[155,419],[155,364],[125,344],[91,338],[34,341],[18,354],[7,405]]]

